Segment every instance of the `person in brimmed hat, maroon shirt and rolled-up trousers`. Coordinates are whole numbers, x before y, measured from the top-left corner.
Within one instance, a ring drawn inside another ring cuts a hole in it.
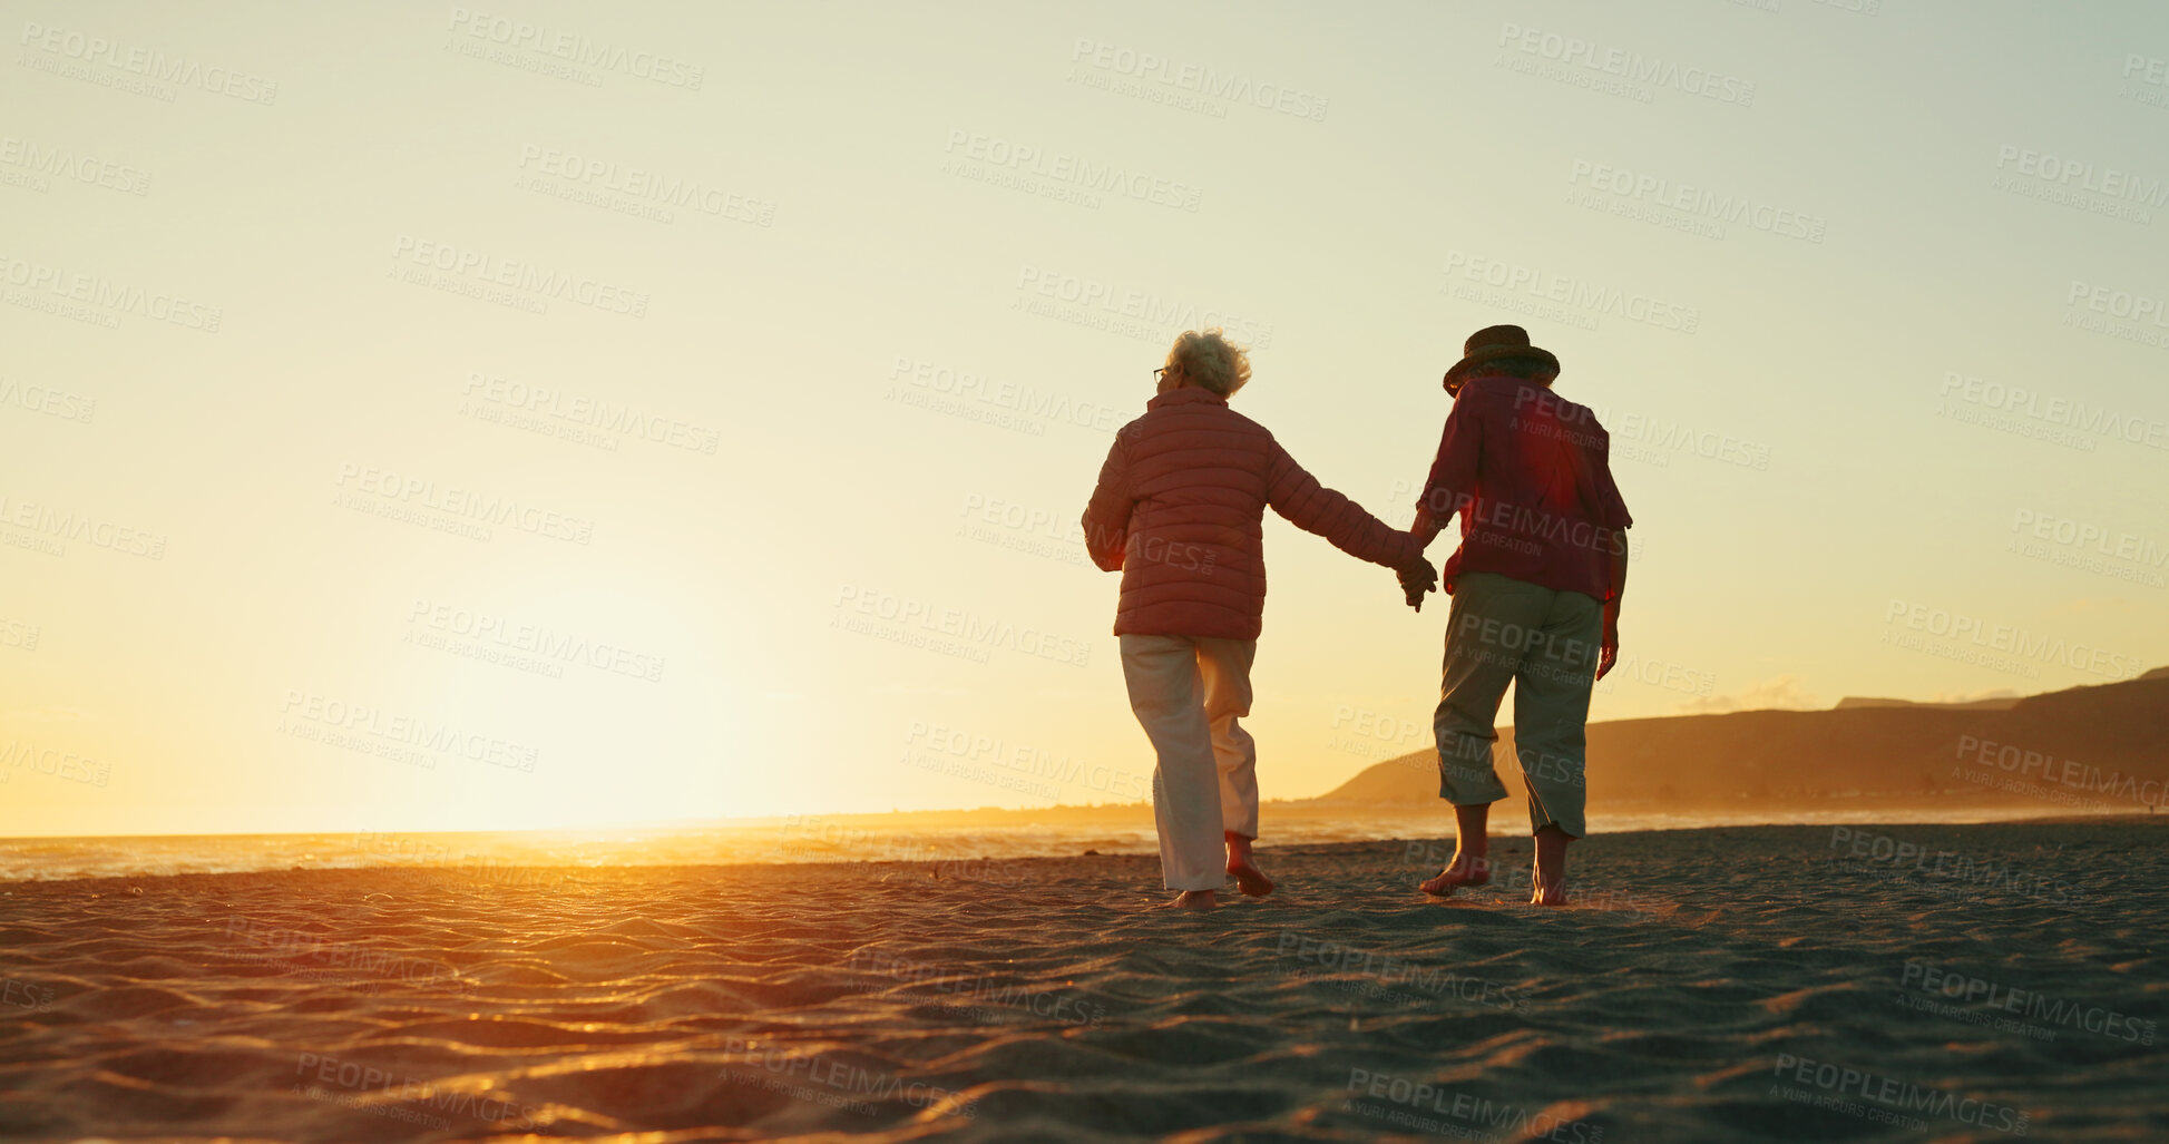
[[[1445,564],[1453,595],[1438,714],[1438,797],[1453,803],[1453,862],[1427,894],[1490,881],[1486,821],[1505,799],[1492,768],[1499,701],[1514,684],[1514,753],[1536,834],[1533,903],[1564,905],[1566,844],[1583,823],[1590,688],[1618,660],[1620,593],[1633,523],[1612,482],[1609,434],[1555,393],[1560,358],[1520,326],[1468,336],[1447,371],[1453,412],[1412,536],[1429,545],[1453,514],[1462,543]],[[1429,569],[1425,569],[1429,571]],[[1421,608],[1425,577],[1403,580]]]

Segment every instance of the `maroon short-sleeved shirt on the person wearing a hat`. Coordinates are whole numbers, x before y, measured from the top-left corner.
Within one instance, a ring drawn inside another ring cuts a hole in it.
[[[1462,514],[1445,588],[1486,571],[1609,601],[1612,554],[1633,525],[1609,458],[1612,434],[1588,406],[1520,378],[1462,384],[1421,499],[1440,525]]]

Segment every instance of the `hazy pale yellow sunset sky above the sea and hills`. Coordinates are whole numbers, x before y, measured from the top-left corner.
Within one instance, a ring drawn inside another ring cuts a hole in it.
[[[2169,662],[2169,9],[939,9],[9,4],[0,834],[1139,799],[1076,519],[1210,321],[1395,525],[1560,354],[1594,719]],[[1427,745],[1442,599],[1267,562],[1265,795]]]

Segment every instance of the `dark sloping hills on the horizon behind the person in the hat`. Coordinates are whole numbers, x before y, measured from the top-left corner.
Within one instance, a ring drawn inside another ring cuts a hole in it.
[[[1518,801],[1512,729],[1499,777]],[[2169,805],[2169,669],[2121,684],[1967,703],[1846,699],[1833,710],[1685,714],[1590,725],[1590,801],[1616,810],[2041,808],[2132,814]],[[1379,762],[1304,799],[1438,801],[1438,755]]]

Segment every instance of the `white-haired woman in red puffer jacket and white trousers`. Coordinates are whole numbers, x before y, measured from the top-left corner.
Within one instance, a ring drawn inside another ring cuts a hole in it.
[[[1265,614],[1265,508],[1419,586],[1436,573],[1410,534],[1323,488],[1265,425],[1228,408],[1249,360],[1219,330],[1178,336],[1156,373],[1160,395],[1100,467],[1084,547],[1121,571],[1115,636],[1130,708],[1158,755],[1152,810],[1171,905],[1212,910],[1225,875],[1245,894],[1273,892],[1249,853],[1258,749],[1236,725]]]

